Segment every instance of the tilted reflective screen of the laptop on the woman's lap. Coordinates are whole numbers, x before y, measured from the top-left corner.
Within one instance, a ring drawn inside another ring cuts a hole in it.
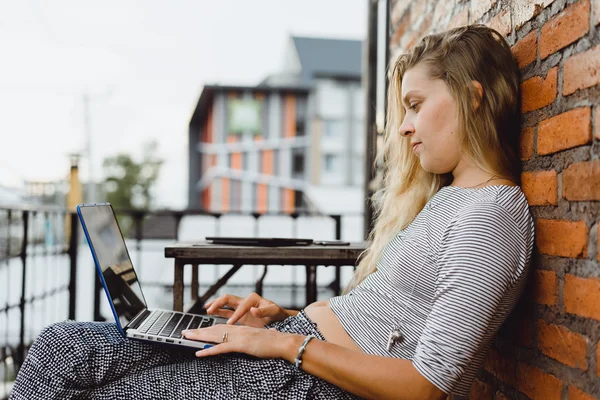
[[[90,247],[102,271],[113,310],[125,327],[140,311],[146,300],[133,269],[117,219],[110,205],[82,205],[79,208]]]

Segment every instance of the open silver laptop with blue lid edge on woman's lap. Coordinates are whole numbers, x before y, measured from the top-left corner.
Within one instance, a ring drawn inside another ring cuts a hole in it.
[[[96,271],[121,334],[129,339],[204,349],[215,343],[187,340],[184,329],[224,324],[218,316],[151,310],[109,203],[80,204],[77,214],[96,264]]]

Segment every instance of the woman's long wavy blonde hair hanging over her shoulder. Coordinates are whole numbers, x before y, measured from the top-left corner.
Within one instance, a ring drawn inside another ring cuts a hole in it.
[[[361,254],[344,293],[377,270],[386,244],[452,180],[451,173],[425,171],[409,141],[400,137],[404,119],[402,77],[417,65],[426,67],[429,78],[442,79],[448,85],[457,104],[463,154],[484,171],[520,183],[521,78],[510,46],[500,33],[484,25],[425,36],[398,57],[391,72],[382,154],[383,187],[371,198],[375,224],[368,239],[372,243]],[[481,84],[481,97],[473,81]]]

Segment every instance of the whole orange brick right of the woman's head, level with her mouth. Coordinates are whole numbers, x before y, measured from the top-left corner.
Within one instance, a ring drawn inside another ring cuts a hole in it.
[[[592,110],[581,107],[540,122],[538,155],[552,154],[591,143]]]

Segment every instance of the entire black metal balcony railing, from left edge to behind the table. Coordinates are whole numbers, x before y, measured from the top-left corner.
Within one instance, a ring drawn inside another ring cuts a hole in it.
[[[251,217],[253,227],[249,235],[260,236],[261,218],[282,216],[292,221],[291,232],[287,234],[292,237],[298,237],[299,222],[302,218],[316,216],[333,221],[333,232],[330,232],[329,238],[338,240],[342,238],[342,215],[316,215],[309,211],[260,214],[212,213],[194,210],[116,210],[116,214],[124,228],[124,235],[129,242],[128,247],[138,256],[142,253],[142,244],[152,239],[179,241],[182,220],[185,217],[196,216],[213,220],[214,231],[211,234],[214,236],[227,235],[222,229],[225,217]],[[344,215],[346,216],[350,215]],[[355,217],[361,218],[361,214]],[[245,234],[248,235],[247,232]],[[203,237],[196,239],[201,240]],[[78,256],[80,256],[78,250],[83,244],[82,240],[79,220],[74,212],[43,207],[0,207],[0,376],[2,377],[0,399],[10,392],[10,382],[14,380],[29,346],[39,331],[52,322],[76,318]],[[133,245],[130,241],[133,241]],[[144,268],[140,259],[133,261],[136,269]],[[81,265],[81,268],[83,267]],[[340,267],[334,268],[336,268],[335,278],[328,285],[321,285],[320,293],[327,292],[332,295],[339,293]],[[296,298],[298,294],[301,295],[300,291],[305,290],[304,285],[297,284],[296,279],[292,279],[292,282],[287,285],[263,285],[264,278],[263,273],[256,282],[228,284],[227,288],[242,292],[261,293],[263,288],[282,293],[288,292],[290,301],[282,305],[299,308]],[[200,288],[209,287],[212,283],[214,282],[203,282]],[[169,286],[165,282],[144,280],[143,284],[144,287],[160,286],[165,291],[172,290],[172,283]],[[82,296],[87,295],[82,292],[79,296],[81,300]],[[101,314],[102,301],[105,300],[99,280],[96,278],[93,291],[94,320],[105,319]]]

